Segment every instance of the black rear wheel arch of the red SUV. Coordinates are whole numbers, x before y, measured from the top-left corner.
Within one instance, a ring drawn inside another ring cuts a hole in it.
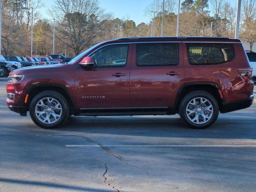
[[[177,94],[176,94],[176,99],[175,99],[175,107],[177,111],[179,110],[180,102],[184,98],[184,96],[194,90],[201,90],[201,91],[206,91],[214,98],[217,100],[220,109],[222,108],[222,103],[225,102],[223,92],[218,86],[218,84],[214,82],[192,82],[192,83],[185,83],[182,86],[180,86]]]

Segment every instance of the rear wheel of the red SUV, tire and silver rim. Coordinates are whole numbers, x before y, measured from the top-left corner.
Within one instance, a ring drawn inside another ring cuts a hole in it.
[[[208,92],[193,91],[180,102],[179,114],[186,125],[194,129],[204,129],[218,118],[219,105]]]

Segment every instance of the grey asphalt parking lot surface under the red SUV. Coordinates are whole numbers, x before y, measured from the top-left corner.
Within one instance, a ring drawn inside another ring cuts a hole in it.
[[[0,192],[255,191],[256,101],[205,130],[175,116],[74,117],[44,130],[5,103]]]

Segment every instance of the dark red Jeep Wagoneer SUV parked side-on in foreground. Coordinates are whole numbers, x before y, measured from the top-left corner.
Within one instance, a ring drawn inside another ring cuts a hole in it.
[[[139,37],[102,42],[68,64],[17,69],[7,105],[42,128],[69,116],[180,114],[192,128],[250,107],[252,66],[240,40]]]

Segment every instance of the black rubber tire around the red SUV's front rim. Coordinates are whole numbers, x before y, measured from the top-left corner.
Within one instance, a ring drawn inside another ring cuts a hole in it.
[[[58,101],[60,103],[60,106],[62,108],[62,113],[60,115],[60,117],[58,118],[58,120],[56,122],[47,124],[44,122],[41,122],[37,116],[36,116],[36,104],[43,98],[54,98],[56,101]],[[32,101],[30,102],[30,106],[29,106],[29,113],[30,113],[30,117],[32,118],[33,122],[37,125],[40,126],[42,128],[45,129],[51,129],[51,128],[57,128],[58,126],[61,126],[68,118],[69,114],[70,114],[70,109],[68,106],[68,102],[66,100],[66,98],[56,92],[56,91],[44,91],[44,92],[40,92],[39,94],[37,94],[36,96],[34,96],[34,98],[32,99]]]

